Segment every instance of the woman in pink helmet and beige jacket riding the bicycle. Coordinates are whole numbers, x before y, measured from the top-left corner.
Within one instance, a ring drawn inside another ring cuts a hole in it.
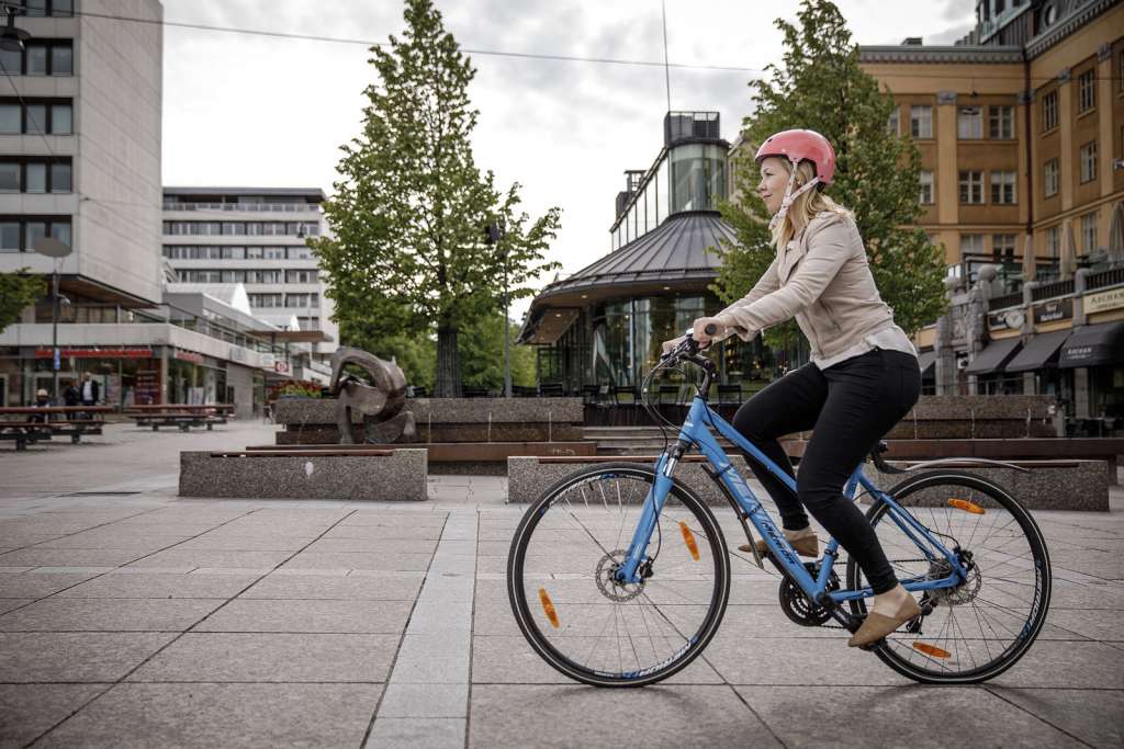
[[[738,409],[734,427],[795,475],[778,438],[813,430],[796,476],[797,496],[750,462],[777,502],[785,536],[804,556],[818,556],[807,508],[862,568],[874,593],[870,613],[847,645],[870,645],[921,609],[899,583],[873,528],[843,485],[863,457],[917,402],[921,369],[906,334],[894,323],[867,263],[853,216],[823,193],[835,172],[832,145],[813,130],[785,130],[758,149],[758,194],[772,213],[777,257],[745,298],[695,321],[708,346],[731,334],[752,340],[794,317],[812,347],[812,362]],[[715,326],[717,334],[706,329]],[[664,344],[670,350],[682,339]],[[759,550],[764,550],[759,541]],[[749,550],[749,547],[743,547]]]

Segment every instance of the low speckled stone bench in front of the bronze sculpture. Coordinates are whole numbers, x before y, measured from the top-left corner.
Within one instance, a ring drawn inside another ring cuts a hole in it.
[[[424,449],[180,453],[180,496],[423,501]]]

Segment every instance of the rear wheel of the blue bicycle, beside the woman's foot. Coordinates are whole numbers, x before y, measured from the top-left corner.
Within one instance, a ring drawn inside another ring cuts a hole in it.
[[[945,547],[968,555],[969,576],[958,587],[925,593],[933,612],[918,631],[899,628],[874,652],[899,674],[931,684],[973,684],[1014,666],[1050,605],[1050,557],[1034,519],[998,484],[959,471],[913,476],[887,493]],[[899,579],[948,576],[948,563],[926,559],[888,504],[876,502],[867,518]],[[868,585],[853,559],[846,579],[852,590]],[[867,612],[862,600],[851,608]]]

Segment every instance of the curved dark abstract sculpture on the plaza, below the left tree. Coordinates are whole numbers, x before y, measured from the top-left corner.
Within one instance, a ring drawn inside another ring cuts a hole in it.
[[[344,372],[353,364],[371,375],[374,385]],[[383,362],[359,348],[339,347],[332,355],[332,394],[336,400],[336,426],[339,444],[353,445],[352,409],[363,414],[363,437],[377,445],[411,442],[417,436],[414,414],[402,411],[406,404],[406,376],[391,362]]]

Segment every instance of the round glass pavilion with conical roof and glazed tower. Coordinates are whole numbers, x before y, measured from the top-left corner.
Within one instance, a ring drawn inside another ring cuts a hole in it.
[[[538,347],[540,384],[579,393],[590,385],[638,385],[660,345],[725,307],[708,290],[736,241],[718,202],[729,192],[729,144],[718,112],[668,112],[652,166],[625,172],[609,229],[611,252],[550,284],[534,299],[518,342]],[[716,353],[719,383],[767,382],[773,354],[760,339],[727,339]]]

